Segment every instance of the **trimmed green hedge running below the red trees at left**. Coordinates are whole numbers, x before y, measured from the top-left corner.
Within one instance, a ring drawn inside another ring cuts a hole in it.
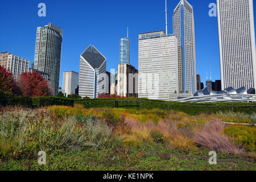
[[[74,100],[60,97],[28,97],[0,94],[1,106],[43,107],[52,105],[74,106]]]

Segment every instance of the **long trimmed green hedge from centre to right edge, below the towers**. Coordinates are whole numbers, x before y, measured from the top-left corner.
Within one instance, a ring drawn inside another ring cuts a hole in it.
[[[75,100],[76,104],[82,104],[85,108],[95,107],[122,107],[122,108],[137,108],[137,109],[165,109],[183,111],[190,115],[200,113],[217,113],[218,111],[234,111],[246,114],[256,113],[256,103],[242,102],[218,102],[218,103],[189,103],[189,102],[170,102],[147,99],[113,99],[113,98],[94,98],[94,99],[79,99]]]

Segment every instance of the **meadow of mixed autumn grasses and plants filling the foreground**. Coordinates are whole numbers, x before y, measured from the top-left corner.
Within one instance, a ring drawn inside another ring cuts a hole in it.
[[[1,107],[0,170],[255,170],[255,127],[230,130],[221,118],[251,122],[254,115]],[[37,163],[40,150],[45,166]],[[216,166],[208,163],[211,150]]]

